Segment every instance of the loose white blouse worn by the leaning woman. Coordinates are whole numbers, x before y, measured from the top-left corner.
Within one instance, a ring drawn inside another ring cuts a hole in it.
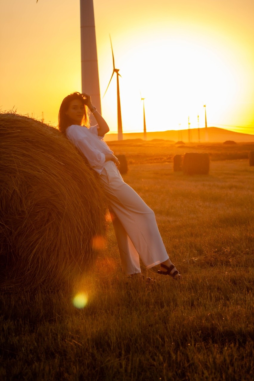
[[[91,167],[99,174],[104,168],[105,154],[113,154],[109,146],[98,136],[98,125],[87,128],[71,125],[66,129],[66,136],[85,155]]]

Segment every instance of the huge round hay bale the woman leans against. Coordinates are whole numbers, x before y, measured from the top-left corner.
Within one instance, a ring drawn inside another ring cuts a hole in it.
[[[56,128],[0,114],[0,291],[75,282],[104,234],[104,197]]]

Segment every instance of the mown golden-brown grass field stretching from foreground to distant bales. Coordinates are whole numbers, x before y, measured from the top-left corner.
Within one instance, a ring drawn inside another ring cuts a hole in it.
[[[144,266],[155,284],[126,277],[109,222],[75,290],[0,295],[1,380],[253,379],[254,167],[217,160],[190,177],[135,152],[124,179],[155,211],[182,281]]]

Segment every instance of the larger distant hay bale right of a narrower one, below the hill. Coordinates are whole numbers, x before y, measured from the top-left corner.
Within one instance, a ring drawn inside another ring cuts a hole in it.
[[[210,158],[208,154],[187,152],[184,155],[183,171],[185,174],[208,174]]]

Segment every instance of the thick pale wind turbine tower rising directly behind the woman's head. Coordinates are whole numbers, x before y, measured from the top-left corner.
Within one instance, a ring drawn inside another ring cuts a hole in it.
[[[82,93],[91,95],[101,114],[101,96],[96,48],[93,0],[80,0]]]

